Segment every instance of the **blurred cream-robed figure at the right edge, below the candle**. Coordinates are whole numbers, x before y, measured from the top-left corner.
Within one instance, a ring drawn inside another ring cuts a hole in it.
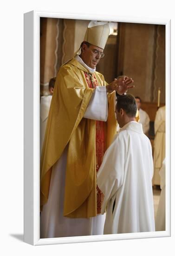
[[[156,112],[154,123],[154,176],[153,185],[160,185],[159,171],[165,158],[165,106],[159,108]]]

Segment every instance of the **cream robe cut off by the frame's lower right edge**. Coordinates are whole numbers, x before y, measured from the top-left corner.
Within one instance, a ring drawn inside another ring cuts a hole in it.
[[[156,231],[165,231],[165,159],[162,163],[159,175],[161,177],[161,195],[156,214]]]

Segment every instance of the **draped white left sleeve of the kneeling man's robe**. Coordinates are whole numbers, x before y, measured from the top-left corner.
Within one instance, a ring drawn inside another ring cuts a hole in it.
[[[124,136],[125,134],[125,136]],[[97,173],[97,185],[104,194],[102,213],[123,184],[124,164],[127,154],[127,134],[120,132],[106,150],[101,167]]]

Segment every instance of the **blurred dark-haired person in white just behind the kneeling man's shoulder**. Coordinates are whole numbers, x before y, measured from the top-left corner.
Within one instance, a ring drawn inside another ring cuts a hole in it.
[[[140,123],[143,126],[143,133],[148,135],[149,132],[149,115],[141,108],[141,98],[136,96],[135,97],[136,102],[137,102],[137,108],[138,108],[138,112],[139,112],[139,116],[140,116]]]

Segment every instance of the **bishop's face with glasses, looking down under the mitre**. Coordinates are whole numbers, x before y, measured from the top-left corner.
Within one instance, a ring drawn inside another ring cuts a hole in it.
[[[95,45],[88,47],[86,44],[83,44],[81,53],[82,60],[88,67],[95,68],[100,61],[100,54],[102,54],[103,51],[102,48]]]

